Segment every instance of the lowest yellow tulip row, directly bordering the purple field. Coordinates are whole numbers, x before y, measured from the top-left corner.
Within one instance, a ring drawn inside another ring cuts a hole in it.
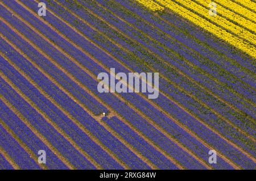
[[[156,2],[160,3],[160,5],[167,7],[171,11],[175,12],[176,14],[179,14],[183,16],[183,18],[188,19],[192,23],[196,24],[196,26],[199,26],[203,28],[204,30],[207,30],[208,32],[212,33],[216,37],[225,40],[229,44],[233,45],[234,47],[242,50],[243,52],[249,54],[251,57],[256,58],[256,49],[253,45],[250,45],[246,41],[240,39],[240,37],[234,36],[231,33],[225,31],[221,27],[218,27],[204,18],[201,18],[201,16],[196,15],[195,13],[185,9],[184,7],[181,7],[177,3],[173,1],[166,1],[166,0],[155,0]],[[212,19],[216,18],[216,16],[210,16]]]

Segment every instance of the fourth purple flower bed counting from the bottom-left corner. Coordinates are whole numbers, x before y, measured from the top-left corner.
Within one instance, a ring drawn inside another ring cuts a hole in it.
[[[53,146],[77,169],[95,169],[95,167],[86,160],[73,146],[65,140],[55,129],[49,125],[42,116],[37,113],[34,108],[28,105],[18,94],[16,94],[1,78],[1,94],[16,107],[20,113],[34,126],[40,130],[40,133],[51,142]],[[76,133],[77,135],[77,133]],[[111,162],[108,161],[108,165]],[[115,166],[113,166],[115,167]]]

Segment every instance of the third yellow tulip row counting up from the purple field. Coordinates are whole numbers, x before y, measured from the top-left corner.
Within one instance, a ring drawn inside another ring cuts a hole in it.
[[[209,3],[212,2],[212,0],[194,0],[194,1],[206,7],[208,7]],[[240,24],[240,26],[256,32],[256,23],[253,23],[250,20],[243,18],[242,16],[234,13],[233,11],[225,9],[225,7],[221,5],[217,5],[217,14],[220,14],[226,18],[229,18],[230,20],[233,20],[234,22]]]

